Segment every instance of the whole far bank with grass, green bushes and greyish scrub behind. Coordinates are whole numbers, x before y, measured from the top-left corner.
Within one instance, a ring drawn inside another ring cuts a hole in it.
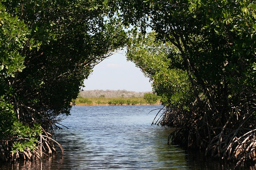
[[[127,96],[132,96],[132,97],[127,97]],[[94,106],[94,105],[159,105],[161,103],[158,97],[152,92],[134,92],[134,91],[126,91],[126,90],[117,90],[117,91],[93,90],[93,91],[81,91],[80,96],[78,96],[78,98],[75,101],[75,104],[76,106]]]

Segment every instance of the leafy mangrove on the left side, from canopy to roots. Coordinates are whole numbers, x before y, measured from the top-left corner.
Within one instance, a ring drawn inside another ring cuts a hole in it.
[[[69,115],[84,79],[126,43],[120,19],[107,15],[110,5],[95,0],[0,3],[0,144],[13,153],[1,154],[2,160],[54,151],[49,134]]]

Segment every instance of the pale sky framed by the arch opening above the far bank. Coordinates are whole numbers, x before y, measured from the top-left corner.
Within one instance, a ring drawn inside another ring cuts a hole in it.
[[[93,70],[84,80],[84,90],[152,91],[150,79],[134,63],[126,60],[124,51],[104,59]]]

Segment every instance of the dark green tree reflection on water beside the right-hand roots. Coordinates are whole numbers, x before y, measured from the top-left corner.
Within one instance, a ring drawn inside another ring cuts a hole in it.
[[[220,170],[232,169],[234,165],[222,165],[218,160],[206,159],[202,152],[187,151],[176,145],[167,145],[168,136],[172,132],[170,128],[157,128],[155,131],[158,140],[154,143],[153,154],[157,156],[157,162],[161,162],[157,169],[197,169]],[[150,150],[148,150],[150,152]]]

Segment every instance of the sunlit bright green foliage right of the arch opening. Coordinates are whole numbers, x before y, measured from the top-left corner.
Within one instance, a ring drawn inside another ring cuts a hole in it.
[[[150,77],[162,104],[180,107],[181,103],[191,100],[188,76],[181,65],[178,49],[171,43],[156,40],[156,36],[156,33],[151,32],[146,36],[138,34],[137,38],[131,38],[127,59],[134,62],[145,76]]]

